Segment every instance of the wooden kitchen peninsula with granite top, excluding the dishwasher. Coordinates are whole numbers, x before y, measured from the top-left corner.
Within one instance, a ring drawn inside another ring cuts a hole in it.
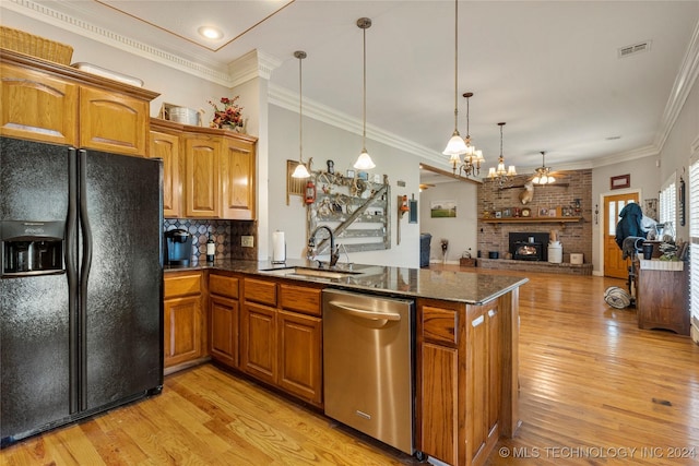
[[[359,264],[319,271],[300,260],[166,267],[166,351],[199,344],[193,359],[210,357],[322,410],[322,289],[413,299],[415,451],[450,465],[482,465],[519,423],[518,300],[526,282]],[[198,331],[177,322],[177,309],[192,302],[200,316],[187,321]],[[175,333],[182,331],[199,343],[178,344]],[[176,361],[170,371],[187,365]]]

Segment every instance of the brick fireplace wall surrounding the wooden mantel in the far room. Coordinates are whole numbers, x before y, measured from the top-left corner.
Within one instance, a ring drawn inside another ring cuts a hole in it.
[[[557,174],[553,186],[534,187],[532,201],[523,205],[519,195],[524,191],[524,183],[531,175],[519,175],[511,183],[500,188],[489,180],[478,188],[478,252],[488,258],[488,252],[497,251],[500,259],[509,252],[508,238],[510,231],[548,232],[556,230],[564,249],[564,262],[570,262],[571,253],[582,253],[584,263],[592,262],[592,170],[571,170]],[[576,200],[579,200],[579,213],[574,212]],[[485,223],[484,216],[502,216],[510,211],[513,218],[514,207],[530,207],[531,217],[541,219],[536,223]],[[580,222],[555,222],[549,215],[543,216],[542,210],[570,210],[572,217],[580,216]]]

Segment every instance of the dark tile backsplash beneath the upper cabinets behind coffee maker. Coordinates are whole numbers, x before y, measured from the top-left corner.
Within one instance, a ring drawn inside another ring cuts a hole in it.
[[[258,258],[258,224],[254,220],[208,220],[192,218],[166,218],[163,232],[181,228],[192,235],[192,260],[205,260],[206,241],[212,234],[216,243],[215,259],[241,259],[254,261]],[[254,247],[242,248],[242,236],[252,236]]]

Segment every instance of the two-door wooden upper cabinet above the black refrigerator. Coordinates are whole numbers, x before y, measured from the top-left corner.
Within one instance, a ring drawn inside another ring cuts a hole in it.
[[[0,134],[144,157],[157,93],[3,50]]]

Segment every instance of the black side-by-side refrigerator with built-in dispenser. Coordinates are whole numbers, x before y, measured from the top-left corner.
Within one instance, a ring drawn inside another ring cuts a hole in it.
[[[162,391],[162,172],[0,138],[0,446]]]

